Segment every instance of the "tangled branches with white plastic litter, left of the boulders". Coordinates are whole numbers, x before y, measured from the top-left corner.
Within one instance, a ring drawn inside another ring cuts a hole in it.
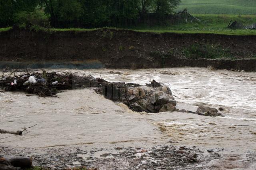
[[[42,97],[54,96],[60,90],[76,89],[80,87],[98,87],[103,79],[95,79],[91,75],[79,76],[69,72],[27,72],[15,75],[13,71],[9,75],[0,77],[0,89],[4,91],[25,91]]]

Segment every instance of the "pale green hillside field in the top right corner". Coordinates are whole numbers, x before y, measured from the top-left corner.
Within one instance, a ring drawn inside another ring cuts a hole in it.
[[[256,14],[256,0],[182,0],[184,8],[193,14]]]

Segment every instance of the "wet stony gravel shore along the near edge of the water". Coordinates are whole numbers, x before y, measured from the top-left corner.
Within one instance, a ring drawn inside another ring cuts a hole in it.
[[[220,155],[212,153],[204,155],[196,147],[162,145],[152,148],[113,148],[90,149],[76,148],[45,148],[40,153],[35,149],[17,149],[0,147],[0,156],[32,156],[33,166],[41,166],[49,170],[59,170],[85,166],[100,170],[108,169],[188,169],[202,168],[212,159]]]

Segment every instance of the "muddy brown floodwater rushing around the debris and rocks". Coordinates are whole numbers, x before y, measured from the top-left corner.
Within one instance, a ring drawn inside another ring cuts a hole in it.
[[[206,68],[61,69],[91,74],[107,81],[145,84],[150,79],[169,83],[178,109],[195,111],[196,102],[223,107],[224,117],[191,113],[135,113],[93,89],[68,90],[57,97],[0,93],[0,128],[30,132],[0,140],[2,146],[111,147],[156,144],[222,148],[226,153],[256,151],[256,73]],[[54,70],[56,71],[56,70]],[[110,71],[119,72],[116,74]],[[0,134],[0,138],[10,134]]]

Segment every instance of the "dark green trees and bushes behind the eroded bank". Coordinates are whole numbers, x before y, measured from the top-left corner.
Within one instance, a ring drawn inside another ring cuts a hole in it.
[[[13,24],[54,28],[131,26],[152,16],[152,13],[159,18],[173,13],[180,1],[0,0],[0,27]]]

